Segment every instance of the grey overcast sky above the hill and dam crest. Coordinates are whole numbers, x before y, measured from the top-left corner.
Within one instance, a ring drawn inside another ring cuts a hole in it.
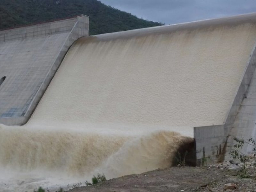
[[[256,12],[256,0],[100,0],[139,18],[168,24]]]

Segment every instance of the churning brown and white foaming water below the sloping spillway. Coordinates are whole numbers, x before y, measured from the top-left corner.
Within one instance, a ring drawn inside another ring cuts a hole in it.
[[[0,125],[0,191],[65,189],[97,173],[111,179],[168,167],[175,149],[193,140],[164,129],[127,134],[113,127],[105,132],[60,127]]]

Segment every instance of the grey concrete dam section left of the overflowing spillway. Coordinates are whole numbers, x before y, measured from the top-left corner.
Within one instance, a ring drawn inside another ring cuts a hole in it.
[[[69,47],[86,35],[85,15],[0,31],[0,123],[28,121]]]

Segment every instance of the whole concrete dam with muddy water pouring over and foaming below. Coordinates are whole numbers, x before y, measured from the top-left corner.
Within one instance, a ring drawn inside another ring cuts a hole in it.
[[[256,137],[255,13],[96,36],[88,24],[0,32],[0,190],[165,168],[188,144],[192,163],[220,162],[232,136]]]

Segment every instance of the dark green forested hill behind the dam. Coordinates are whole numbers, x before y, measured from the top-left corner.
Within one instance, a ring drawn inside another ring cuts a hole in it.
[[[1,0],[0,30],[80,14],[90,17],[90,35],[163,25],[97,0]]]

